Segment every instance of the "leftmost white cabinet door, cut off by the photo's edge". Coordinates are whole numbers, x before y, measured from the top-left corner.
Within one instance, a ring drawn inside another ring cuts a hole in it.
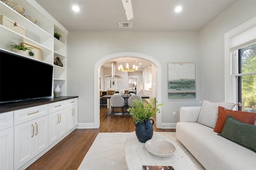
[[[13,169],[13,127],[0,131],[0,170]]]

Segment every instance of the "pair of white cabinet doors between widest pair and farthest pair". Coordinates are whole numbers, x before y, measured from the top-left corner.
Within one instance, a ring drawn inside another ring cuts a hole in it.
[[[49,145],[60,139],[66,133],[66,109],[48,115]]]

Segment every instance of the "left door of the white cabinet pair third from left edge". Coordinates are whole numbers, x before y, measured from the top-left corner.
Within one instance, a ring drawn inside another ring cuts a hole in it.
[[[48,115],[48,144],[51,145],[58,139],[58,123],[59,115],[58,112],[54,112]]]

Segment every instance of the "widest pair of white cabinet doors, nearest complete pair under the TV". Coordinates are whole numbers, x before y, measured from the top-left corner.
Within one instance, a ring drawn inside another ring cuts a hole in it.
[[[14,169],[48,147],[48,116],[14,126]]]

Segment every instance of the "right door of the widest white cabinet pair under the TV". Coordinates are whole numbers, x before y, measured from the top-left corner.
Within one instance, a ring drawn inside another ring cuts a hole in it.
[[[48,115],[39,117],[35,122],[34,155],[48,147]]]

